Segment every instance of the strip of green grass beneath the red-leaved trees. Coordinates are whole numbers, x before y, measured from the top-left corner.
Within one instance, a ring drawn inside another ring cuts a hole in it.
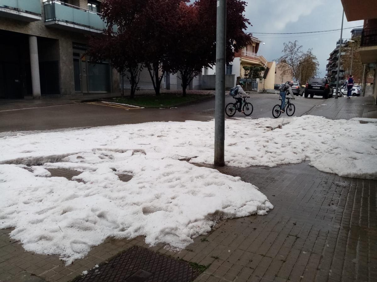
[[[133,99],[130,97],[113,98],[111,102],[144,108],[170,108],[185,103],[202,100],[210,96],[211,95],[186,94],[186,96],[183,97],[182,94],[161,94],[160,96],[149,94],[145,96],[136,96]]]

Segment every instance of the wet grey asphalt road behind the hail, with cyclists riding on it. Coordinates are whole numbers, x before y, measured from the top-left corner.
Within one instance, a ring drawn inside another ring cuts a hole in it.
[[[277,94],[250,94],[254,106],[252,118],[271,117],[272,108],[280,103]],[[233,102],[227,96],[225,104]],[[294,115],[300,116],[316,105],[326,103],[322,97],[297,97]],[[30,109],[0,111],[0,132],[54,130],[71,127],[94,127],[118,124],[144,123],[151,121],[207,121],[214,117],[215,98],[196,102],[173,109],[124,109],[111,106],[77,103],[70,105],[46,106]],[[285,114],[282,114],[284,116]],[[234,117],[245,117],[236,113]]]

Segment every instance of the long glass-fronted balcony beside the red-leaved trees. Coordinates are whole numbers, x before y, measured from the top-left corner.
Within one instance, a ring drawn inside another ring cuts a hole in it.
[[[106,23],[101,19],[100,13],[82,9],[57,0],[44,3],[44,20],[61,25],[61,28],[78,28],[91,32],[102,32]],[[59,27],[59,26],[57,26]]]

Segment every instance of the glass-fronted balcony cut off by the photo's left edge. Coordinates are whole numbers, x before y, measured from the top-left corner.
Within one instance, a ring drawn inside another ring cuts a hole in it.
[[[0,0],[0,17],[28,22],[41,20],[41,1]]]

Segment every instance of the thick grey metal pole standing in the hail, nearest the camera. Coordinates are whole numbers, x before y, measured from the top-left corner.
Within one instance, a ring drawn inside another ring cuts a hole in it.
[[[225,32],[226,0],[217,0],[216,26],[216,96],[215,96],[215,159],[214,165],[223,167],[225,139]]]

